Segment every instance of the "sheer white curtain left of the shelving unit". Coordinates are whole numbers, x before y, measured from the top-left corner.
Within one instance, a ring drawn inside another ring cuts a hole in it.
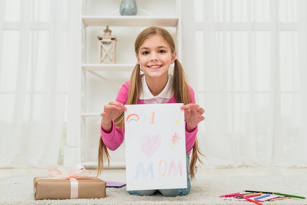
[[[0,1],[0,167],[57,165],[74,5]]]

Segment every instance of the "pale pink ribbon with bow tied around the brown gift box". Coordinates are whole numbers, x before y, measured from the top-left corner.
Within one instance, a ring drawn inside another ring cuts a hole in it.
[[[92,174],[91,170],[86,170],[83,164],[78,164],[72,168],[69,173],[61,172],[55,167],[48,168],[48,175],[50,178],[39,179],[69,179],[71,182],[71,199],[78,198],[78,181],[77,179],[90,179],[88,176]],[[35,191],[34,191],[35,192]]]

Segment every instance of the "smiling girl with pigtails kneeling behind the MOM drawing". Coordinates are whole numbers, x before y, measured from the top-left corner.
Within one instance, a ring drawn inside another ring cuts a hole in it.
[[[146,28],[136,38],[134,47],[137,64],[130,80],[122,85],[115,102],[104,105],[101,114],[98,175],[102,172],[103,163],[109,163],[107,148],[116,150],[124,141],[124,111],[127,110],[125,104],[183,103],[180,109],[184,110],[185,119],[187,188],[135,190],[129,193],[143,196],[159,191],[164,196],[186,195],[191,189],[189,175],[191,179],[195,179],[194,167],[196,161],[200,160],[196,133],[197,124],[205,119],[202,115],[204,109],[195,104],[194,91],[187,84],[185,73],[177,59],[174,39],[166,29],[155,26]],[[173,63],[174,73],[170,75],[168,70]]]

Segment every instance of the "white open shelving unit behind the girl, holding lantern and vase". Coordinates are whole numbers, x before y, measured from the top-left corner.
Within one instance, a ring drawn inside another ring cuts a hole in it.
[[[103,105],[115,100],[118,90],[135,66],[134,40],[144,28],[161,26],[175,37],[180,55],[180,0],[138,0],[136,16],[121,16],[121,0],[83,0],[80,12],[81,59],[78,78],[69,77],[67,145],[64,166],[83,163],[97,166],[100,138],[100,113]],[[111,11],[111,12],[110,12]],[[158,12],[157,12],[158,11]],[[108,13],[108,15],[104,15]],[[102,15],[103,14],[103,15]],[[98,63],[98,39],[106,26],[116,36],[116,63]],[[126,166],[125,143],[111,155],[110,167]]]

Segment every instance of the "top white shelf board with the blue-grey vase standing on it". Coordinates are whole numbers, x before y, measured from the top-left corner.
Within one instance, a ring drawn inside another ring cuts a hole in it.
[[[85,26],[169,26],[178,25],[178,16],[82,16]]]

